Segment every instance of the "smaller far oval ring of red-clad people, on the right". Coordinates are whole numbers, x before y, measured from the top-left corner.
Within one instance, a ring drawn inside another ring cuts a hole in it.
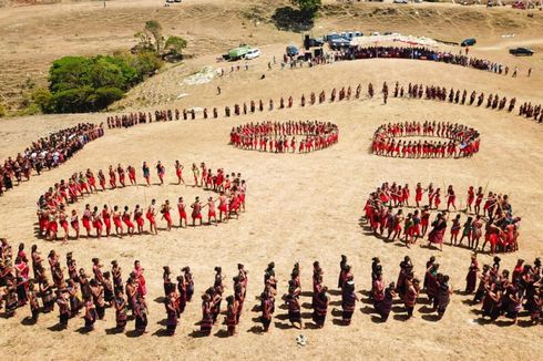
[[[436,141],[396,141],[397,137],[439,137]],[[377,155],[407,158],[470,157],[479,152],[480,135],[472,127],[450,122],[404,122],[379,126],[373,134],[371,152]]]

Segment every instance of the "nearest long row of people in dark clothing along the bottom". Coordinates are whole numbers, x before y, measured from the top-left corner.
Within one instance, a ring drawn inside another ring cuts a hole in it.
[[[123,281],[122,269],[114,260],[111,262],[111,271],[104,271],[101,260],[92,259],[92,276],[83,268],[78,269],[73,255],[66,255],[66,268],[60,266],[60,257],[54,251],[48,256],[50,272],[53,282],[48,281],[43,262],[45,261],[32,246],[31,265],[24,252],[24,245],[19,246],[14,266],[11,266],[13,252],[10,245],[2,240],[0,252],[2,255],[2,274],[0,277],[1,300],[6,305],[6,317],[16,316],[17,309],[29,305],[31,320],[37,323],[40,313],[51,312],[55,306],[59,309],[58,327],[64,329],[69,320],[83,310],[84,328],[88,331],[94,329],[96,320],[104,319],[107,308],[115,310],[115,331],[124,332],[129,320],[129,312],[135,319],[135,331],[139,334],[146,332],[148,308],[145,301],[147,289],[144,277],[144,268],[139,261],[134,262],[126,281]],[[30,267],[33,270],[33,279],[30,278]],[[406,316],[401,319],[408,320],[413,317],[414,308],[421,302],[422,291],[427,295],[426,303],[433,305],[432,320],[441,319],[453,295],[453,286],[450,277],[444,275],[436,257],[431,257],[422,272],[423,282],[416,277],[414,267],[409,256],[400,262],[399,274],[396,282],[386,281],[385,270],[378,257],[373,257],[371,264],[371,290],[369,302],[373,303],[372,312],[379,314],[380,320],[386,322],[392,310],[395,299],[404,305]],[[64,272],[68,269],[68,278]],[[163,272],[163,302],[166,310],[166,333],[175,333],[181,316],[185,307],[191,302],[195,291],[194,278],[189,267],[182,269],[182,275],[172,280],[172,271],[165,266]],[[288,281],[288,291],[281,299],[288,309],[288,320],[298,329],[304,328],[301,316],[303,287],[300,281],[300,265],[296,262]],[[475,290],[477,279],[480,285],[474,296],[474,302],[483,302],[485,316],[495,320],[506,312],[508,317],[516,322],[516,317],[522,307],[529,310],[532,323],[540,320],[543,305],[543,288],[541,275],[541,261],[535,259],[534,266],[524,265],[519,260],[509,280],[509,271],[500,270],[500,259],[494,258],[492,267],[484,265],[482,272],[479,269],[477,257],[473,256],[468,275],[465,277],[464,295],[471,295]],[[313,264],[313,292],[310,292],[313,309],[313,321],[317,328],[325,327],[326,317],[329,314],[330,293],[328,287],[322,283],[324,270],[318,261]],[[350,324],[356,302],[360,301],[355,290],[354,269],[346,256],[341,256],[339,265],[338,290],[341,296],[341,322]],[[201,333],[209,336],[213,326],[217,323],[222,311],[223,295],[226,289],[225,275],[221,267],[215,267],[214,283],[207,288],[202,296],[202,321]],[[39,283],[39,290],[34,285]],[[236,333],[236,326],[243,314],[247,296],[248,271],[244,265],[237,266],[237,275],[233,278],[234,295],[226,297],[225,323],[230,336]],[[269,329],[275,312],[275,296],[277,295],[278,281],[275,276],[275,264],[268,265],[264,271],[264,292],[259,297],[259,311],[262,331]],[[53,296],[54,295],[54,296]],[[42,307],[40,307],[40,299]],[[395,311],[398,312],[398,311]],[[334,311],[332,311],[334,313]],[[428,318],[428,316],[427,316]]]

